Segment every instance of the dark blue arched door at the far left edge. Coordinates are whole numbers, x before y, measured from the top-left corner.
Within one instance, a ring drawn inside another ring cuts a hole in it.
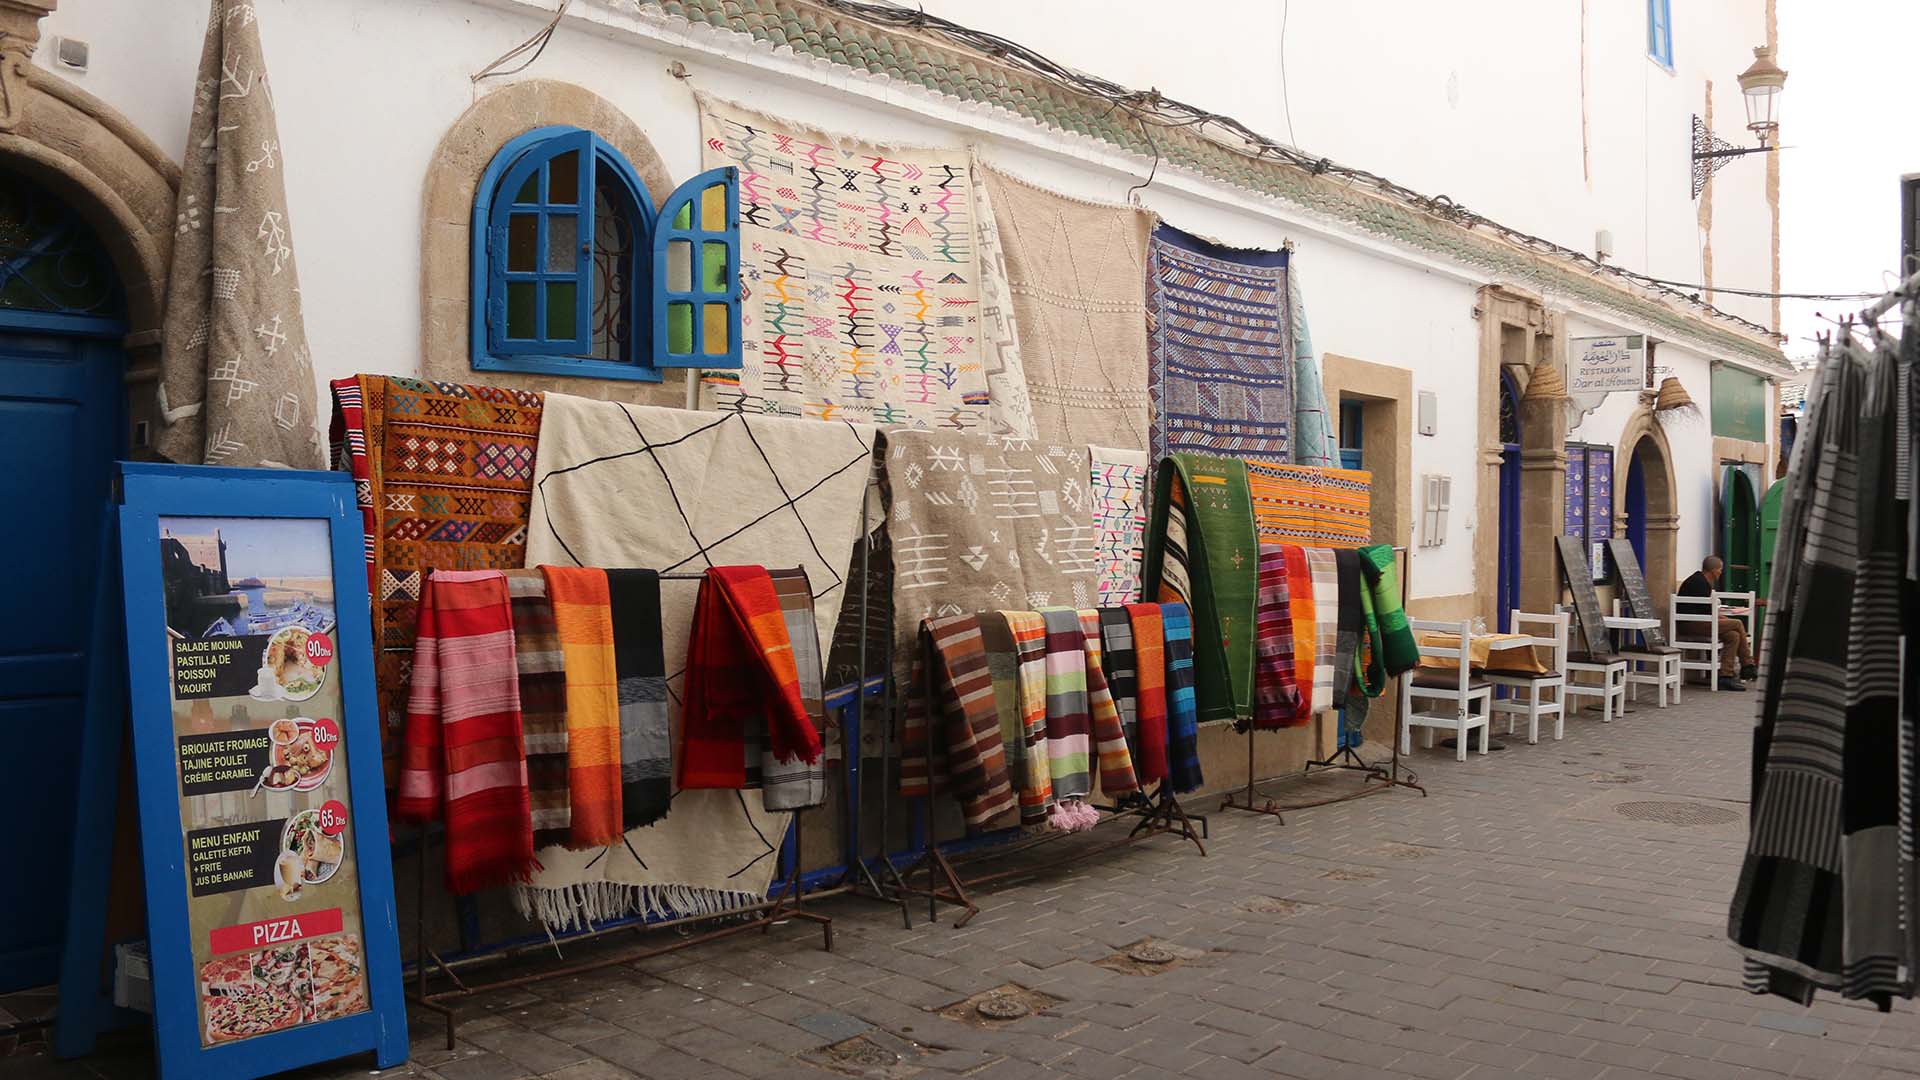
[[[19,826],[0,872],[0,992],[58,976],[100,525],[127,429],[125,334],[100,240],[0,171],[0,821]]]

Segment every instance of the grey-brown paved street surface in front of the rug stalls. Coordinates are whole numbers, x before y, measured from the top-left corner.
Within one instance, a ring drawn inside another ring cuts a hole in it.
[[[841,897],[837,947],[801,924],[501,992],[459,1045],[415,1019],[444,1080],[547,1076],[1119,1076],[1498,1080],[1920,1076],[1912,1005],[1749,997],[1722,926],[1745,836],[1751,694],[1594,713],[1565,742],[1415,751],[1430,796],[1284,822],[1215,813],[1171,838],[981,890],[964,930]],[[1212,799],[1210,799],[1212,803]],[[993,857],[1006,863],[1006,857]],[[1154,942],[1169,965],[1127,961]],[[589,955],[570,949],[570,959]],[[1031,1013],[964,1001],[1014,988]],[[958,1005],[958,1007],[956,1007]],[[144,1074],[0,1059],[8,1080]],[[365,1076],[369,1065],[307,1076]]]

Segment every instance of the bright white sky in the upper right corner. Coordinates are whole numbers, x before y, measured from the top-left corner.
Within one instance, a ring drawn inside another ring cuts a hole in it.
[[[1780,290],[1889,288],[1901,256],[1899,179],[1920,173],[1920,0],[1780,0]],[[1741,146],[1753,138],[1741,133]],[[1728,169],[1753,169],[1736,160]],[[1736,288],[1766,282],[1716,281]],[[1788,300],[1789,357],[1812,354],[1814,311]]]

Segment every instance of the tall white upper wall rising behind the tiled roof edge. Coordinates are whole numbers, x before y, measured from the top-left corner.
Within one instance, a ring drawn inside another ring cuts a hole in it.
[[[1711,79],[1715,129],[1751,144],[1734,79],[1766,40],[1764,0],[1676,0],[1672,71],[1647,58],[1644,0],[922,6],[1580,252],[1609,229],[1615,265],[1682,282],[1703,281],[1688,121]],[[1741,158],[1715,179],[1716,282],[1770,288],[1764,175]],[[1716,302],[1770,319],[1764,300]]]

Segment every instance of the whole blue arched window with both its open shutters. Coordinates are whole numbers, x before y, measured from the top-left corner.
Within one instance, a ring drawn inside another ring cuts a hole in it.
[[[474,369],[657,382],[739,367],[737,221],[733,169],[682,184],[657,217],[593,133],[513,138],[474,196]]]

